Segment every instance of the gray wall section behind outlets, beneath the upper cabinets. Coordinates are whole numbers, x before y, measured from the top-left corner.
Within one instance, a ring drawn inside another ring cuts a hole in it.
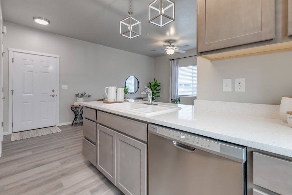
[[[197,58],[197,99],[279,105],[292,95],[292,51],[220,61]],[[232,79],[232,92],[222,79]],[[235,78],[245,78],[245,92],[235,92]]]

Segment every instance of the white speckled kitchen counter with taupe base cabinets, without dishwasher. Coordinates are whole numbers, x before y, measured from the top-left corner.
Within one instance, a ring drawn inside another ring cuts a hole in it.
[[[147,187],[151,188],[147,178],[150,177],[150,167],[157,162],[147,165],[152,154],[150,140],[148,142],[150,135],[147,135],[147,127],[150,131],[152,126],[150,123],[209,137],[214,141],[246,146],[244,164],[241,165],[243,195],[278,195],[292,191],[292,129],[279,119],[279,106],[197,101],[195,106],[177,105],[181,108],[178,111],[145,116],[121,110],[119,106],[108,106],[102,101],[83,102],[81,105],[88,110],[84,113],[87,121],[83,128],[84,156],[124,194],[144,195]],[[130,176],[130,172],[135,175]],[[188,171],[184,174],[187,175]],[[220,174],[217,176],[220,177]],[[238,177],[238,174],[233,172],[232,177]],[[228,183],[228,180],[220,180],[224,181]]]

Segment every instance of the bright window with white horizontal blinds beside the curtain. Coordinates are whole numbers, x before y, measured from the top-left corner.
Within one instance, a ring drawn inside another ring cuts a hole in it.
[[[197,96],[197,65],[178,67],[178,95]]]

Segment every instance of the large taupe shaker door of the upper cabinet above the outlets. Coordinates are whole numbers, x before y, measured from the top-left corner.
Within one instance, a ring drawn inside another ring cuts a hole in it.
[[[197,0],[198,52],[273,39],[274,7],[274,0]]]

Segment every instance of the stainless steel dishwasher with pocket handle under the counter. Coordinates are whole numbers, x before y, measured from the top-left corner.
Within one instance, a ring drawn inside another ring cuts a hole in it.
[[[246,147],[148,126],[149,195],[245,195]]]

